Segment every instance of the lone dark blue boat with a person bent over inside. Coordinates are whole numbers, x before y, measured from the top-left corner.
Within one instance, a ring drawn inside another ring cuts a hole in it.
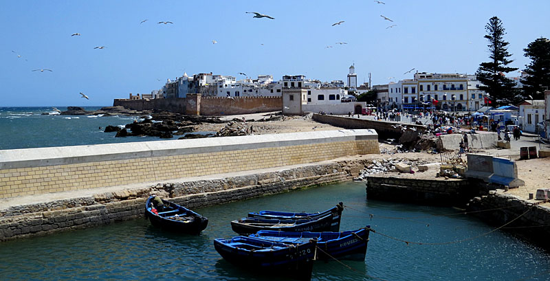
[[[145,203],[145,215],[151,221],[151,224],[156,227],[173,232],[199,234],[208,225],[208,218],[164,199],[162,200],[164,210],[155,214],[151,211],[153,206],[151,199],[153,199],[153,196],[149,197]]]

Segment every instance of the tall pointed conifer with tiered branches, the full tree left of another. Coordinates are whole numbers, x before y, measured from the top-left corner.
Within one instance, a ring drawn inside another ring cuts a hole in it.
[[[476,76],[479,82],[483,83],[479,89],[489,94],[493,105],[509,104],[517,100],[518,90],[516,82],[506,78],[505,74],[516,71],[517,68],[507,67],[514,60],[508,59],[511,54],[507,50],[509,43],[504,41],[506,32],[502,21],[493,16],[485,25],[485,31],[487,35],[484,37],[489,41],[487,47],[489,47],[489,58],[492,61],[479,64]]]

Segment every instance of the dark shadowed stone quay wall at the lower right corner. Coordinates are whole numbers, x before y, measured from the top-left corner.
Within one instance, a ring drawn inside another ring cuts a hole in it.
[[[550,249],[550,207],[538,205],[542,201],[518,199],[504,190],[478,196],[467,205],[467,212],[486,223],[525,238],[544,249]]]

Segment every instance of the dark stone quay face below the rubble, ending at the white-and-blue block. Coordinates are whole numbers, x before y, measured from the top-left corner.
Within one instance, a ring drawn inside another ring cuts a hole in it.
[[[448,205],[467,203],[478,189],[465,179],[403,179],[370,176],[366,179],[368,199]]]

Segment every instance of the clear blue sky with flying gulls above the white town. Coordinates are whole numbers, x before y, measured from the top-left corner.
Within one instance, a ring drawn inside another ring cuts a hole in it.
[[[373,84],[412,68],[473,74],[488,60],[492,16],[514,67],[529,63],[527,44],[550,38],[550,1],[382,1],[2,1],[0,106],[108,106],[184,71],[330,81],[355,63],[358,82],[370,72]]]

